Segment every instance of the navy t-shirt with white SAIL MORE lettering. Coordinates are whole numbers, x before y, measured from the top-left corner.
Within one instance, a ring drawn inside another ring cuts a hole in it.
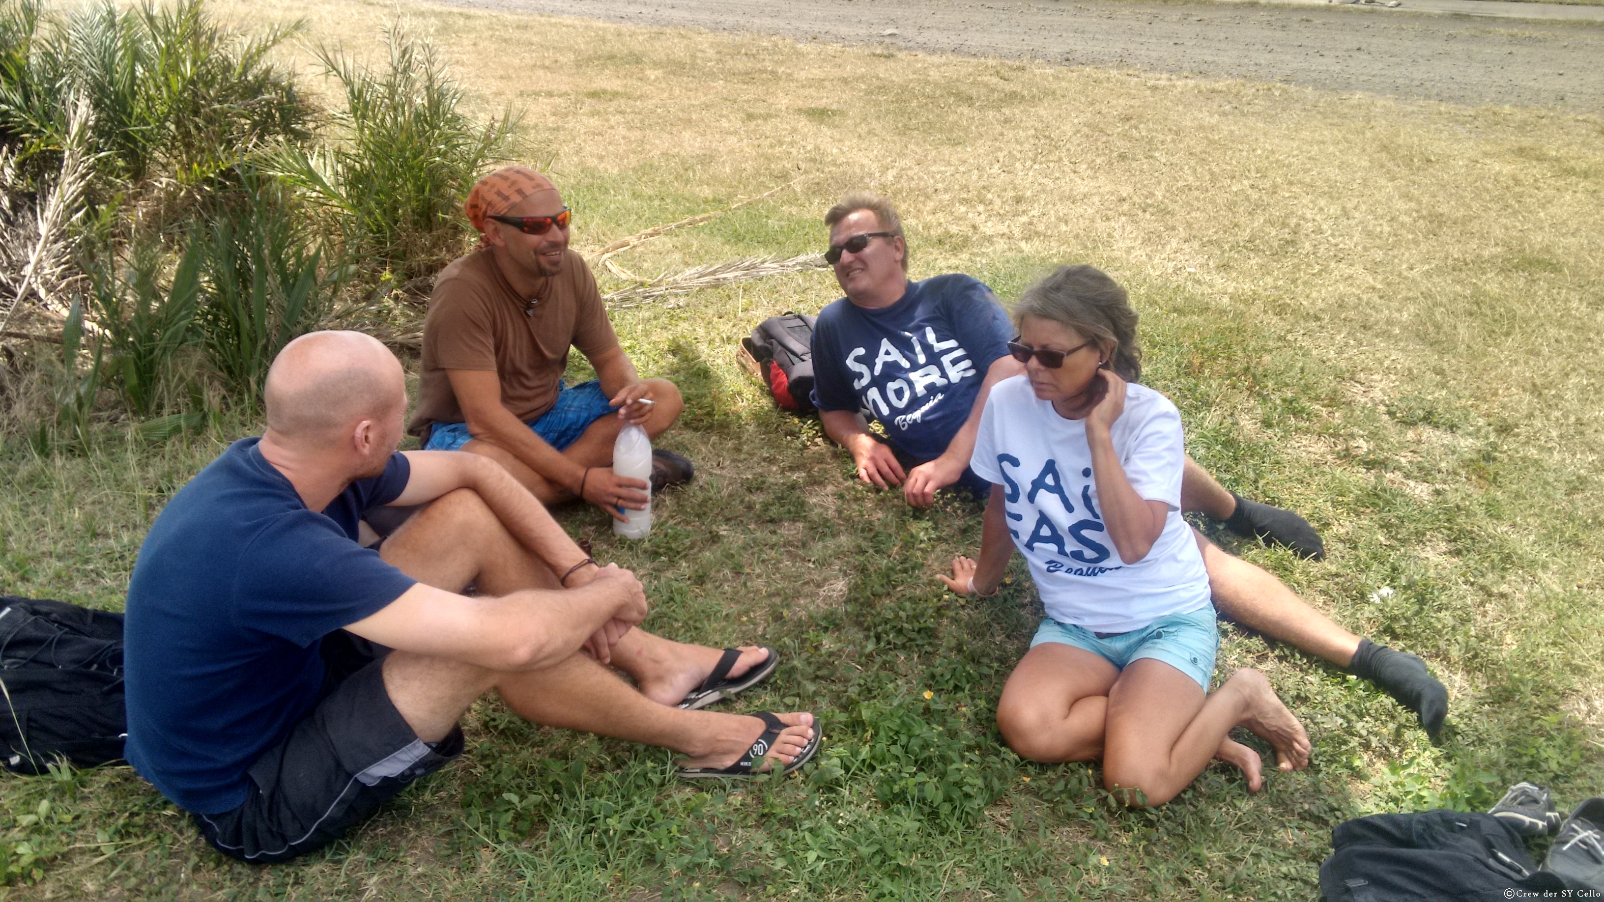
[[[908,454],[940,457],[1011,337],[991,289],[956,273],[908,282],[879,310],[836,300],[813,327],[813,404],[863,411]]]

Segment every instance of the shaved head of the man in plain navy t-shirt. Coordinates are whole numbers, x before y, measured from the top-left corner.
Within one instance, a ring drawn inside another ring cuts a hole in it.
[[[390,348],[371,335],[308,332],[273,360],[265,396],[268,430],[279,440],[332,448],[364,419],[398,419],[406,409],[406,376]]]

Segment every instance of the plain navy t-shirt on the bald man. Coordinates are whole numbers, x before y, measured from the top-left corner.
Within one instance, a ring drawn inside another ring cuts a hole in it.
[[[322,514],[236,441],[151,526],[128,583],[128,764],[197,814],[245,801],[245,770],[319,700],[319,640],[414,586],[356,544],[361,515],[412,470],[351,483]]]

